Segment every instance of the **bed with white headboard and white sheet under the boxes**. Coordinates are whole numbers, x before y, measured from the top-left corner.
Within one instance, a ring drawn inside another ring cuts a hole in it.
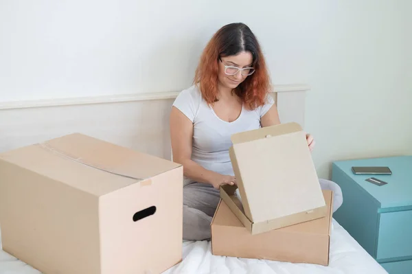
[[[304,84],[275,86],[272,93],[282,122],[304,126]],[[91,135],[171,159],[168,115],[178,91],[0,103],[0,152],[73,132]],[[1,233],[1,232],[0,232]],[[1,244],[1,242],[0,242]],[[39,247],[41,248],[41,247]],[[39,272],[0,250],[1,274]],[[291,264],[227,258],[211,254],[207,241],[183,242],[183,261],[164,274],[181,273],[387,273],[336,220],[332,222],[330,265]]]

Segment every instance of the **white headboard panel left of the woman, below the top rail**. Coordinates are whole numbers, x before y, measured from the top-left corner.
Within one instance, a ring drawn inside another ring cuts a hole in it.
[[[173,99],[0,111],[0,152],[69,133],[84,133],[170,159]]]

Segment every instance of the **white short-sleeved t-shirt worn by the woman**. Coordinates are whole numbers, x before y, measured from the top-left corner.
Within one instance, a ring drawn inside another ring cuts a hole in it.
[[[192,160],[207,170],[234,176],[229,157],[231,135],[260,128],[260,118],[273,103],[273,98],[268,95],[264,106],[253,111],[243,106],[238,119],[226,122],[216,115],[211,106],[203,100],[198,87],[193,85],[179,93],[173,106],[193,123]],[[185,178],[185,185],[189,183],[193,181]]]

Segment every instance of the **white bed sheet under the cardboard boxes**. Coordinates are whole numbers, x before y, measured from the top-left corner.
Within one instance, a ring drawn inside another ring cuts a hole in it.
[[[1,246],[1,240],[0,240]],[[40,274],[0,250],[1,274]],[[332,222],[330,264],[292,264],[269,260],[229,258],[211,254],[207,241],[183,242],[183,261],[163,274],[385,274],[380,266],[336,220]],[[74,274],[74,273],[73,273]]]

